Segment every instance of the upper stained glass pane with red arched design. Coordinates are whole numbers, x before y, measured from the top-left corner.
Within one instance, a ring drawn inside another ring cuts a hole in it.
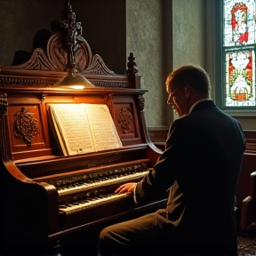
[[[224,0],[224,46],[255,44],[255,0]]]

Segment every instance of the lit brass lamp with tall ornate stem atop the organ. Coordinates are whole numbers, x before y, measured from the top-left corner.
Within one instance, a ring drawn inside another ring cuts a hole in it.
[[[69,1],[65,1],[65,8],[60,19],[60,28],[63,31],[63,45],[66,48],[68,63],[66,66],[67,76],[57,82],[56,85],[68,86],[73,89],[84,89],[94,86],[84,76],[76,73],[76,52],[79,49],[79,36],[82,35],[81,22],[76,22],[76,13],[73,12]]]

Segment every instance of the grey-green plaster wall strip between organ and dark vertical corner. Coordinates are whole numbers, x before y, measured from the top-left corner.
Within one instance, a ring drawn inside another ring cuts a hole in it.
[[[126,1],[126,55],[133,52],[142,76],[141,88],[148,89],[144,114],[150,127],[167,125],[164,60],[172,56],[164,52],[164,2]],[[172,15],[172,10],[169,10],[169,15]]]

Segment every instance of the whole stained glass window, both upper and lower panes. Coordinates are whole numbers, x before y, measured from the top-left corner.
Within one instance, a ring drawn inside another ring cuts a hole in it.
[[[225,107],[255,107],[256,0],[223,0]]]

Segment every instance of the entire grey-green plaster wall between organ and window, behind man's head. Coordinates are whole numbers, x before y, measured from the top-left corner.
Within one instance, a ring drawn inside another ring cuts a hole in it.
[[[168,127],[177,116],[166,104],[166,76],[188,63],[204,67],[204,0],[129,0],[126,20],[126,55],[134,53],[148,89],[147,126]]]

